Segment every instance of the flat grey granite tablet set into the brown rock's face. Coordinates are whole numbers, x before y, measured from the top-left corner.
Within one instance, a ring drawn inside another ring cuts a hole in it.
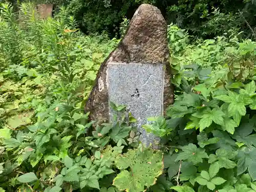
[[[146,134],[141,125],[146,118],[163,113],[164,65],[152,63],[118,63],[108,65],[109,101],[125,104],[137,119],[140,140],[149,145],[159,140],[152,134]],[[113,111],[110,109],[110,118]]]

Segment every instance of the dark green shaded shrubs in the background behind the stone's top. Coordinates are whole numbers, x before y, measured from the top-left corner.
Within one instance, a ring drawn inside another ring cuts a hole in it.
[[[63,4],[63,1],[58,0],[48,2]],[[142,3],[157,6],[168,24],[174,23],[188,29],[189,34],[204,39],[221,36],[234,28],[242,29],[243,36],[250,37],[254,32],[249,29],[248,24],[251,29],[256,27],[254,0],[71,0],[64,2],[84,32],[106,31],[111,36],[119,34],[123,18],[131,19]]]

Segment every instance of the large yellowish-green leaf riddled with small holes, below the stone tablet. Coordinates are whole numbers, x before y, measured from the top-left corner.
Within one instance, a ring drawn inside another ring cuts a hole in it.
[[[119,163],[119,161],[121,161]],[[123,156],[118,156],[116,164],[127,163],[133,170],[129,172],[122,170],[113,181],[113,185],[119,190],[143,191],[144,186],[149,187],[155,184],[156,178],[162,174],[162,153],[153,153],[151,149],[129,150]],[[125,165],[126,166],[126,165]],[[129,181],[129,182],[127,182]]]

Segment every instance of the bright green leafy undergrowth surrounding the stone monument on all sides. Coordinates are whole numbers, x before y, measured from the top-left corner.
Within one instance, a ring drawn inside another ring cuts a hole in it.
[[[119,40],[85,36],[69,8],[42,20],[33,4],[18,7],[19,15],[9,4],[0,8],[0,192],[256,191],[252,27],[229,28],[219,10],[199,22],[210,28],[194,31],[214,38],[196,38],[188,24],[168,26],[176,98],[166,117],[143,125],[162,138],[151,150],[139,142],[124,105],[111,103],[115,121],[94,128],[97,119],[83,112],[100,63]]]

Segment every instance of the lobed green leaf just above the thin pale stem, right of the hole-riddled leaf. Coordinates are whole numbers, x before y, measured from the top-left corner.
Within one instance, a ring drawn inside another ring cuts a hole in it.
[[[203,148],[197,148],[195,144],[189,143],[186,146],[181,147],[182,151],[176,161],[188,160],[194,164],[203,162],[203,158],[208,158],[207,153]]]

